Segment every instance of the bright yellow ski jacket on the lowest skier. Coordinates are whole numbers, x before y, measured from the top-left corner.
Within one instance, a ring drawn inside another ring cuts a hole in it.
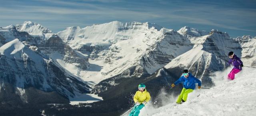
[[[145,89],[143,92],[140,92],[139,90],[136,92],[135,96],[133,97],[134,102],[148,102],[150,100],[150,94],[149,92],[147,92],[147,90]]]

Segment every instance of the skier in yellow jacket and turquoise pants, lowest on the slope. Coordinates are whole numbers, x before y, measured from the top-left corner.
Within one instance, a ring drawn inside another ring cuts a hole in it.
[[[133,97],[133,100],[136,104],[129,116],[139,116],[140,110],[145,106],[147,102],[149,102],[151,98],[149,92],[146,90],[145,84],[139,84],[138,89],[139,90]]]

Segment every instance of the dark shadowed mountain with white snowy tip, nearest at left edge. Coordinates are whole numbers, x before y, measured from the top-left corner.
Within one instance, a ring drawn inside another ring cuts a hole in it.
[[[46,92],[56,91],[67,98],[90,92],[84,82],[65,73],[51,60],[42,58],[18,39],[0,47],[1,84],[10,83],[18,88],[34,87]]]

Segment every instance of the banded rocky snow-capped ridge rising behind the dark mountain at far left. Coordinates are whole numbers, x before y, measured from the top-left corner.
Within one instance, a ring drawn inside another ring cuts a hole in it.
[[[4,42],[10,42],[15,38],[18,38],[22,42],[25,41],[25,44],[32,50],[38,54],[51,56],[57,64],[76,66],[83,70],[89,67],[88,57],[86,55],[74,51],[68,45],[64,44],[56,34],[53,34],[49,29],[40,24],[26,21],[22,25],[7,26],[0,28],[0,37],[1,35],[5,39]]]

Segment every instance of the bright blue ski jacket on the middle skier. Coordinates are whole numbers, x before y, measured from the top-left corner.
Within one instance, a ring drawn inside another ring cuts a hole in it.
[[[198,83],[198,86],[201,86],[201,81],[198,80],[198,78],[195,78],[191,73],[188,73],[188,78],[185,78],[183,75],[174,82],[175,85],[184,82],[183,87],[186,89],[192,89],[194,90],[196,87],[196,83]]]

